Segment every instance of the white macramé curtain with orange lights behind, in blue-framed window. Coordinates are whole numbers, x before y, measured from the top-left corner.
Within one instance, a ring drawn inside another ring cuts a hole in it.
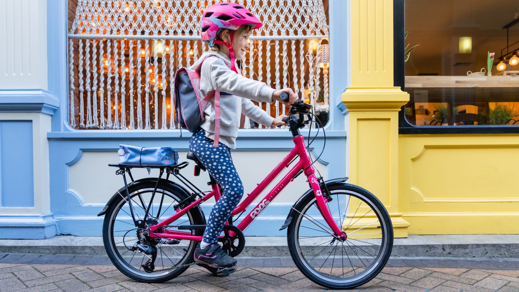
[[[323,2],[239,3],[264,23],[253,31],[241,73],[273,88],[294,88],[307,102],[328,104],[319,63],[329,38]],[[209,49],[199,38],[199,22],[211,4],[79,0],[68,45],[69,124],[76,129],[177,128],[170,77]],[[258,105],[272,116],[286,112],[279,102]],[[248,119],[242,122],[243,128],[251,126]]]

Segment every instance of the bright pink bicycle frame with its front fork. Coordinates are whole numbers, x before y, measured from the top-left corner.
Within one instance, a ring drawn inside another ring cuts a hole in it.
[[[245,210],[247,207],[255,200],[255,198],[262,193],[267,186],[274,181],[274,179],[281,173],[281,171],[289,167],[290,162],[296,157],[299,156],[299,161],[297,164],[292,167],[292,169],[286,174],[277,184],[276,186],[268,192],[268,194],[263,198],[263,200],[253,208],[250,213],[237,225],[237,227],[243,231],[247,228],[254,219],[257,218],[258,215],[262,213],[262,211],[276,198],[276,196],[286,187],[286,185],[293,181],[295,176],[299,173],[299,171],[304,172],[305,176],[308,178],[308,184],[310,188],[312,188],[313,193],[316,195],[317,199],[317,208],[319,209],[321,215],[323,216],[325,222],[329,225],[330,229],[337,234],[338,238],[346,238],[346,234],[337,226],[332,215],[330,214],[330,210],[328,209],[326,203],[327,200],[323,197],[321,188],[315,176],[315,169],[311,165],[310,156],[306,150],[305,142],[303,136],[299,135],[292,139],[294,141],[295,147],[290,151],[288,155],[274,168],[270,174],[267,175],[265,179],[261,183],[257,185],[257,187],[241,202],[231,214],[232,216],[237,215]],[[161,221],[157,225],[150,227],[150,230],[153,232],[149,233],[151,237],[163,237],[168,238],[169,240],[190,240],[190,241],[202,241],[202,236],[192,235],[191,232],[185,231],[174,231],[174,230],[165,230],[165,233],[155,232],[162,226],[169,225],[175,220],[179,219],[183,215],[187,213],[187,211],[204,201],[207,201],[210,197],[214,196],[215,200],[218,201],[221,197],[220,188],[218,188],[218,184],[214,183],[211,185],[212,191],[207,195],[204,195],[203,198],[199,198],[195,202],[189,204],[188,206],[178,209],[176,214]],[[344,240],[343,239],[343,240]]]

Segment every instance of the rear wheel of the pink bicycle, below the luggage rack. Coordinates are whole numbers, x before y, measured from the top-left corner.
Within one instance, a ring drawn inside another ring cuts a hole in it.
[[[152,199],[152,193],[156,181],[142,181],[130,184],[130,193],[133,213],[137,220],[143,219],[146,208]],[[106,253],[119,271],[134,280],[158,283],[171,280],[182,274],[193,262],[197,242],[193,241],[167,241],[162,238],[150,237],[143,230],[137,229],[131,218],[130,206],[127,202],[126,191],[119,191],[117,200],[112,202],[106,212],[103,223],[103,242]],[[153,198],[147,225],[156,225],[158,222],[176,213],[174,205],[184,200],[187,196],[167,183],[160,183]],[[160,209],[160,213],[159,213]],[[205,224],[203,215],[198,208],[193,208],[180,219],[170,223],[176,225]],[[166,227],[167,230],[178,230],[174,227]],[[182,230],[186,231],[186,230]],[[192,231],[192,235],[202,235],[201,230]],[[143,264],[151,259],[151,255],[131,250],[135,243],[153,246],[156,249],[156,259],[153,271],[146,271]]]

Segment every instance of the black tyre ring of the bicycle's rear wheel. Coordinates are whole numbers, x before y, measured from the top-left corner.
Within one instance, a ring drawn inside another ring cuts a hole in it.
[[[153,180],[147,180],[147,181],[141,181],[136,182],[128,185],[128,191],[130,193],[130,197],[135,197],[136,194],[141,194],[142,190],[153,190],[155,188],[156,181]],[[171,280],[172,278],[175,278],[182,274],[188,267],[180,267],[177,269],[171,268],[168,272],[161,273],[157,276],[152,276],[151,274],[146,276],[146,274],[143,274],[143,271],[137,272],[135,269],[131,268],[131,264],[127,262],[127,260],[124,259],[124,257],[121,256],[119,253],[119,250],[117,249],[116,242],[113,236],[113,227],[115,222],[115,217],[119,210],[121,210],[122,206],[124,206],[127,201],[127,194],[126,190],[123,188],[118,191],[120,195],[112,201],[110,206],[107,209],[104,221],[103,221],[103,243],[105,246],[106,254],[108,255],[108,258],[112,261],[114,266],[123,274],[126,276],[132,278],[133,280],[139,281],[139,282],[145,282],[145,283],[160,283],[160,282],[166,282]],[[178,189],[173,188],[169,183],[159,183],[157,187],[157,194],[161,193],[167,193],[176,198],[177,201],[184,200],[187,198],[186,193],[183,193],[179,191]],[[117,194],[117,192],[116,192]],[[154,199],[155,202],[155,199]],[[126,213],[126,212],[125,212]],[[199,207],[195,207],[193,209],[190,209],[187,214],[189,218],[189,224],[194,225],[200,225],[200,224],[206,224],[205,220],[203,218],[203,213],[201,212]],[[194,235],[202,235],[202,230],[194,230]],[[181,258],[182,261],[179,264],[176,264],[175,266],[182,266],[184,264],[192,263],[193,262],[193,254],[196,248],[197,242],[190,241],[189,246],[185,251],[185,255]],[[144,256],[143,256],[144,257]],[[132,258],[133,259],[133,258]],[[131,260],[130,260],[131,262]]]

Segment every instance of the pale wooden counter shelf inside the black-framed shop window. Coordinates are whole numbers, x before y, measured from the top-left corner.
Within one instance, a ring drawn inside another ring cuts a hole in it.
[[[405,76],[405,88],[519,87],[519,76]]]

